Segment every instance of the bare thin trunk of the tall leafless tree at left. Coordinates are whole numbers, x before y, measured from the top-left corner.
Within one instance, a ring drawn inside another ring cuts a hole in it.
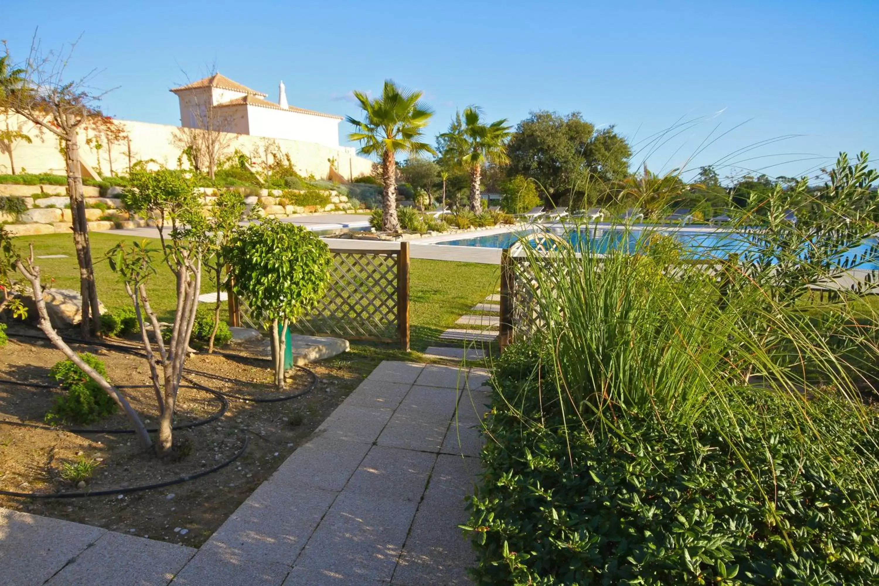
[[[76,248],[76,262],[79,264],[79,294],[83,298],[83,321],[80,324],[80,331],[84,337],[89,337],[98,334],[98,322],[101,314],[98,308],[95,270],[91,264],[89,223],[85,218],[83,175],[79,166],[79,143],[76,138],[76,128],[70,130],[64,137],[64,152],[67,161],[70,215],[73,218],[73,243]]]

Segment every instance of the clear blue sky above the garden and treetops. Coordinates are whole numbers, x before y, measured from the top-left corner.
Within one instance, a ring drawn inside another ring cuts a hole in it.
[[[0,39],[21,58],[38,26],[44,47],[83,33],[70,71],[98,69],[94,85],[116,88],[103,108],[121,119],[177,124],[168,90],[215,64],[269,99],[283,79],[292,105],[342,115],[358,113],[351,90],[392,78],[425,91],[431,136],[470,104],[513,123],[532,110],[579,111],[641,148],[633,168],[649,156],[651,170],[722,161],[734,163],[722,175],[799,176],[840,150],[879,158],[877,0],[130,0],[80,3],[72,26],[68,5],[0,0]],[[655,149],[644,141],[690,119]]]

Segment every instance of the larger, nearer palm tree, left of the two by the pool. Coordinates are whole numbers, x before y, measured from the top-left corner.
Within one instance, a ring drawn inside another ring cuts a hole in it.
[[[348,134],[348,139],[360,142],[360,153],[381,156],[384,183],[381,229],[388,232],[400,229],[396,219],[396,154],[436,155],[429,144],[418,140],[433,115],[432,109],[419,101],[423,93],[406,90],[386,80],[380,98],[370,99],[367,94],[355,91],[354,98],[360,102],[365,117],[362,120],[347,117],[357,129]]]

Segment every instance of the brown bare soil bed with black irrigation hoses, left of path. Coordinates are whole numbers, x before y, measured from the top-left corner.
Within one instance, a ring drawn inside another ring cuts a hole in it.
[[[99,346],[76,344],[73,348],[103,360],[114,384],[144,385],[122,390],[148,427],[156,425],[156,395],[147,386],[149,366],[143,358]],[[360,373],[346,369],[344,361],[310,365],[316,384],[308,394],[282,402],[229,399],[229,408],[219,420],[175,430],[178,455],[163,461],[142,452],[130,434],[46,429],[43,417],[62,390],[3,382],[54,384],[49,369],[63,358],[46,340],[11,338],[0,349],[0,489],[57,493],[142,486],[217,466],[241,449],[245,437],[249,438],[246,452],[222,470],[166,488],[71,499],[0,496],[0,507],[196,547],[309,438],[361,380]],[[272,386],[271,363],[254,356],[196,354],[187,359],[186,367],[208,373],[192,374],[191,378],[221,392],[261,398],[279,396]],[[285,394],[309,387],[311,380],[308,373],[298,373]],[[175,423],[204,419],[219,409],[221,402],[214,395],[198,388],[181,388]],[[126,429],[128,423],[125,416],[116,414],[88,427]],[[85,488],[77,488],[61,477],[63,465],[80,458],[98,464]]]

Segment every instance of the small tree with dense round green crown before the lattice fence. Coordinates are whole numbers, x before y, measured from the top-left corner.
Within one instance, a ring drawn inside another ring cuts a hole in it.
[[[235,292],[252,315],[271,324],[274,380],[284,388],[289,324],[321,298],[330,279],[330,249],[306,228],[269,219],[240,230],[229,248]]]

